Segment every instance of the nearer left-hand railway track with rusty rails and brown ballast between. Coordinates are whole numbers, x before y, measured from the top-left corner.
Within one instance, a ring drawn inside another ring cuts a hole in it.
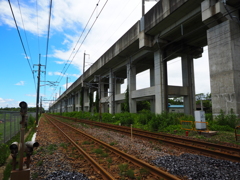
[[[170,173],[128,155],[53,116],[44,115],[92,164],[101,179],[179,179]],[[111,159],[111,162],[109,161]],[[100,179],[100,178],[98,178]]]

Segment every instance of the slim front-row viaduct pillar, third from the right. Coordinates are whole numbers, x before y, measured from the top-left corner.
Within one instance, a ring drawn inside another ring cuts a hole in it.
[[[127,64],[127,85],[129,90],[129,110],[130,113],[137,113],[136,100],[132,99],[132,91],[136,90],[136,67],[129,62]]]

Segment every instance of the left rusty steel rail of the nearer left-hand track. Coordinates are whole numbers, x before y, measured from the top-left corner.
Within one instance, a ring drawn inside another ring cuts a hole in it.
[[[89,156],[80,146],[78,146],[66,133],[64,133],[61,128],[59,128],[54,122],[50,120],[49,116],[45,117],[60,131],[62,134],[87,158],[87,160],[93,165],[96,171],[99,171],[105,180],[114,180],[111,174],[109,174],[105,169],[102,168],[91,156]]]

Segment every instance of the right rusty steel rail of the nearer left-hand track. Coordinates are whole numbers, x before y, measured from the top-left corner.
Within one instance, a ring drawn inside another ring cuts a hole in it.
[[[51,118],[53,118],[53,117],[51,117]],[[172,180],[179,180],[178,177],[176,177],[176,176],[174,176],[174,175],[172,175],[172,174],[170,174],[168,172],[165,172],[165,171],[157,168],[156,166],[152,166],[152,165],[146,163],[145,161],[142,161],[140,159],[135,158],[134,156],[131,156],[131,155],[129,155],[129,154],[123,152],[123,151],[120,151],[119,149],[117,149],[117,148],[115,148],[113,146],[110,146],[109,144],[107,144],[107,143],[105,143],[103,141],[100,141],[100,140],[98,140],[98,139],[96,139],[96,138],[94,138],[94,137],[92,137],[92,136],[90,136],[90,135],[80,131],[77,128],[74,128],[74,127],[72,127],[72,126],[70,126],[70,125],[68,125],[66,123],[63,123],[63,122],[61,122],[61,121],[59,121],[59,120],[57,120],[55,118],[53,118],[53,119],[58,121],[58,122],[60,122],[60,123],[62,123],[62,124],[64,124],[65,126],[68,126],[69,128],[71,128],[71,129],[73,129],[73,130],[75,130],[77,132],[80,132],[80,133],[84,134],[85,136],[87,136],[88,138],[98,142],[99,144],[107,147],[108,149],[112,150],[116,154],[119,154],[120,156],[122,156],[127,161],[131,161],[133,164],[135,164],[137,166],[144,167],[144,168],[148,169],[151,172],[151,174],[153,174],[155,176],[158,176],[158,177],[160,176],[161,178],[169,179],[169,180],[171,180],[171,179]]]

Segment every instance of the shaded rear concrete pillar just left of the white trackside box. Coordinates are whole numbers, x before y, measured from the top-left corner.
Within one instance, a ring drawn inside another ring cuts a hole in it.
[[[184,113],[194,115],[196,109],[194,65],[191,55],[182,55],[183,86],[188,88],[188,95],[184,96]]]

